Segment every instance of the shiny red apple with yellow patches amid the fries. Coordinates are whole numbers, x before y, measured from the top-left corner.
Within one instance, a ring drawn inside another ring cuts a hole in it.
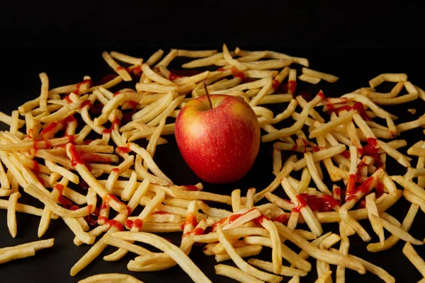
[[[187,103],[176,119],[181,155],[199,178],[231,183],[242,178],[259,152],[259,121],[251,106],[235,96],[201,96]]]

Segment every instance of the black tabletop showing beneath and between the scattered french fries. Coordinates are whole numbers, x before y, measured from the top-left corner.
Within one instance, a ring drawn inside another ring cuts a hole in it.
[[[220,48],[218,46],[210,46],[212,48]],[[235,47],[234,45],[229,46]],[[245,46],[241,46],[242,48]],[[245,47],[248,49],[248,47]],[[254,49],[254,48],[251,48]],[[272,49],[272,48],[271,48]],[[276,49],[276,48],[275,48]],[[4,57],[4,66],[7,67],[8,74],[2,77],[2,91],[0,93],[0,110],[8,114],[26,100],[30,100],[39,95],[40,82],[38,73],[41,71],[47,72],[50,77],[51,88],[69,83],[81,81],[84,75],[92,76],[94,81],[100,79],[103,75],[111,74],[111,69],[108,69],[106,63],[101,58],[103,50],[97,49],[17,49],[9,52]],[[135,56],[147,58],[154,51],[150,49],[118,49],[117,51],[129,52]],[[168,50],[165,50],[166,52]],[[341,79],[334,84],[319,83],[318,86],[311,86],[304,83],[299,84],[298,90],[310,91],[316,93],[319,89],[323,89],[326,96],[340,96],[349,91],[353,91],[361,86],[368,86],[368,80],[373,76],[382,72],[406,72],[409,75],[409,80],[413,83],[425,87],[422,80],[421,67],[424,66],[425,59],[421,54],[421,50],[407,49],[361,49],[361,48],[339,48],[339,49],[285,49],[276,50],[287,52],[310,59],[312,69],[319,71],[327,71],[331,74],[339,76]],[[273,108],[281,112],[285,105],[278,105]],[[416,108],[418,112],[412,115],[407,112],[408,108]],[[405,122],[414,120],[423,114],[424,103],[416,100],[414,103],[406,105],[388,107],[395,115],[399,115],[399,121]],[[290,125],[291,120],[285,121],[282,125]],[[0,129],[6,129],[1,125]],[[414,141],[423,139],[421,129],[402,134],[402,138],[408,140],[409,144]],[[188,169],[179,151],[176,147],[174,137],[166,137],[169,144],[159,146],[155,160],[166,175],[168,175],[177,184],[192,184],[198,182],[193,173]],[[273,180],[272,158],[271,158],[272,143],[261,144],[259,156],[245,178],[232,185],[208,185],[205,184],[205,190],[220,192],[229,195],[235,188],[240,188],[244,194],[249,187],[256,187],[261,190]],[[405,153],[406,149],[401,151]],[[284,157],[288,157],[285,154]],[[387,168],[390,174],[404,174],[406,170],[392,160],[387,158]],[[416,166],[416,159],[412,161],[412,166]],[[329,184],[329,182],[328,182]],[[20,202],[30,202],[40,207],[40,202],[31,200],[25,192]],[[283,190],[278,187],[276,194],[283,195]],[[228,207],[228,209],[230,209]],[[395,216],[399,221],[402,221],[409,204],[405,200],[400,200],[394,207],[391,207],[388,212]],[[15,246],[28,241],[36,241],[37,227],[40,218],[38,216],[29,216],[26,214],[17,214],[18,219],[18,235],[16,238],[11,238],[6,226],[6,211],[0,211],[0,243],[1,246]],[[375,236],[370,224],[367,220],[361,221],[361,224],[367,229],[372,236],[372,242],[377,242],[378,237]],[[412,236],[422,239],[424,238],[424,213],[419,210],[414,220],[414,224],[410,233]],[[300,226],[302,227],[302,226]],[[324,231],[334,231],[337,233],[336,224],[324,224]],[[179,241],[180,234],[176,233],[172,236],[175,241]],[[386,234],[386,236],[388,236]],[[33,258],[23,260],[15,260],[0,265],[0,282],[77,282],[90,275],[105,272],[122,272],[131,274],[143,282],[191,282],[191,279],[179,267],[173,267],[170,270],[162,272],[147,272],[135,273],[128,272],[126,263],[133,255],[128,255],[125,259],[119,262],[105,262],[102,260],[103,255],[111,253],[114,248],[107,248],[101,257],[97,258],[88,267],[79,272],[76,277],[69,276],[69,270],[79,258],[81,258],[89,246],[74,246],[72,239],[74,235],[61,220],[52,221],[50,229],[43,238],[55,238],[55,246],[47,250],[40,250]],[[397,245],[387,251],[380,253],[368,253],[366,243],[363,243],[358,236],[350,237],[349,253],[358,255],[365,260],[369,260],[393,275],[397,282],[417,282],[421,279],[421,275],[412,264],[402,254],[402,246],[404,243],[400,241]],[[293,246],[291,246],[293,247]],[[338,246],[336,246],[338,247]],[[419,254],[424,255],[423,247],[414,247]],[[297,250],[297,248],[294,248]],[[201,248],[193,248],[191,254],[193,261],[200,267],[205,275],[210,277],[213,282],[233,282],[225,277],[218,277],[214,272],[216,264],[212,256],[203,255]],[[264,248],[259,258],[271,261],[271,250]],[[311,260],[314,262],[314,260]],[[231,261],[224,262],[232,264]],[[335,271],[335,268],[332,269]],[[284,277],[283,282],[288,281],[288,277]],[[315,264],[312,267],[310,274],[301,279],[301,282],[314,282],[317,279]],[[380,279],[375,275],[367,273],[360,276],[356,272],[348,270],[346,272],[346,282],[380,282]]]

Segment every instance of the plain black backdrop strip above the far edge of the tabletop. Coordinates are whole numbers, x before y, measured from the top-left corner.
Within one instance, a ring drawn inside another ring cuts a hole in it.
[[[8,1],[2,47],[424,47],[423,1]]]

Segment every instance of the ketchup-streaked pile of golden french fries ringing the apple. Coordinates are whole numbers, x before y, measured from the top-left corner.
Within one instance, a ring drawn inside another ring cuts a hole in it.
[[[16,212],[40,216],[39,237],[52,219],[61,218],[75,234],[75,245],[91,245],[71,267],[72,276],[107,246],[115,246],[117,250],[103,259],[116,261],[133,253],[136,256],[127,265],[130,271],[179,265],[193,282],[211,282],[188,257],[194,243],[204,243],[205,255],[214,255],[217,262],[232,260],[237,266],[220,263],[215,266],[217,275],[238,282],[280,282],[283,277],[300,282],[300,277],[312,272],[309,257],[317,260],[316,282],[344,282],[346,268],[395,282],[382,268],[349,253],[349,236],[357,233],[363,241],[371,240],[358,222],[368,219],[379,238],[378,243],[368,244],[368,250],[378,252],[405,241],[403,253],[425,277],[425,262],[412,246],[424,241],[409,234],[416,213],[425,212],[425,142],[418,141],[407,151],[419,156],[416,168],[412,158],[397,150],[407,146],[404,139],[397,139],[399,134],[425,125],[425,115],[396,125],[397,117],[380,107],[425,100],[425,92],[407,75],[381,74],[370,80],[370,87],[340,98],[326,98],[320,91],[309,101],[297,96],[297,79],[334,83],[338,77],[308,69],[305,58],[279,52],[239,48],[230,52],[223,45],[221,52],[171,50],[164,56],[158,50],[146,61],[118,52],[102,56],[116,73],[103,83],[94,84],[84,76],[80,83],[50,88],[47,74],[42,73],[40,96],[10,116],[0,113],[1,122],[10,126],[0,132],[0,196],[8,197],[0,200],[0,207],[7,209],[11,236],[17,233]],[[216,66],[217,70],[179,76],[167,69],[176,57],[194,58],[183,64],[186,69]],[[302,74],[297,76],[292,64],[302,65]],[[108,90],[122,81],[137,81],[135,89]],[[210,94],[239,96],[256,112],[266,132],[262,141],[274,142],[276,178],[268,187],[250,188],[244,197],[241,190],[231,195],[203,192],[201,183],[174,184],[155,163],[157,146],[174,134],[170,120],[186,103],[205,95],[203,81]],[[384,81],[395,83],[390,93],[375,90]],[[407,94],[400,94],[404,89]],[[287,107],[273,115],[263,106],[272,103],[287,103]],[[319,107],[324,113],[317,111]],[[374,122],[375,117],[385,120],[385,125]],[[273,127],[286,119],[295,122],[286,128]],[[89,139],[89,134],[95,138]],[[146,148],[137,144],[141,139],[149,141]],[[281,151],[293,155],[283,163]],[[387,158],[394,158],[407,173],[388,175]],[[328,187],[322,166],[333,182],[343,181],[345,187]],[[302,172],[300,180],[291,176],[296,171]],[[73,190],[69,182],[86,187],[86,193]],[[282,190],[280,185],[287,199],[273,194]],[[44,209],[19,203],[23,193],[42,202]],[[402,223],[385,212],[401,197],[411,203]],[[265,198],[269,202],[259,204]],[[229,207],[212,207],[215,202]],[[135,215],[138,207],[142,211]],[[339,234],[324,231],[322,224],[331,222],[339,223]],[[298,224],[307,224],[308,230]],[[392,236],[385,238],[384,229]],[[181,233],[180,246],[154,234],[171,232]],[[294,243],[300,253],[285,241]],[[338,243],[339,248],[333,248]],[[50,239],[1,248],[0,263],[52,246]],[[263,247],[272,249],[270,261],[244,260]],[[334,276],[330,265],[337,265]],[[119,274],[95,275],[80,282],[104,280],[140,282]]]

